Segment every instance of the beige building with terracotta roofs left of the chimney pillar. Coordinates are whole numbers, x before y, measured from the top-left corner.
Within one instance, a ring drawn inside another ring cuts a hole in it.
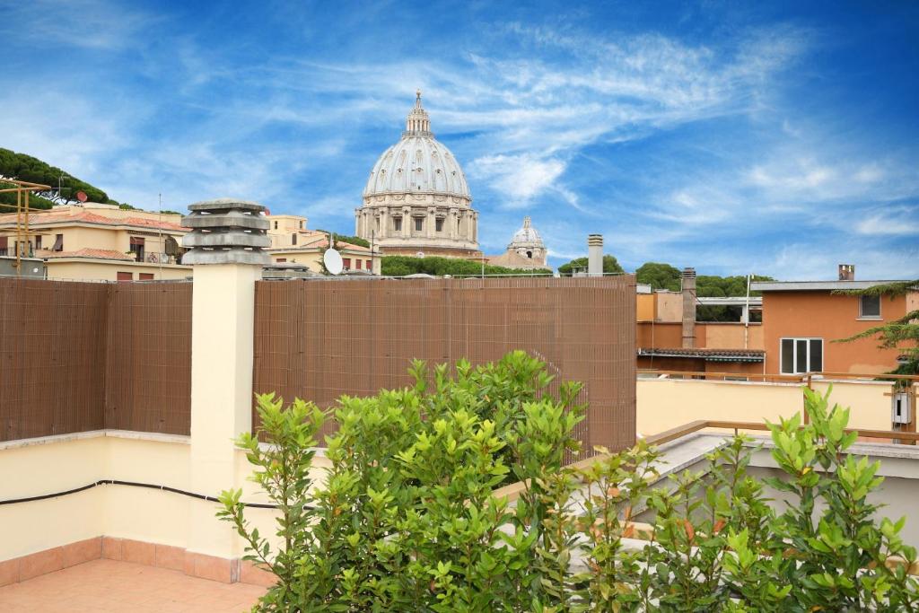
[[[187,278],[181,216],[84,202],[31,213],[17,242],[16,213],[0,215],[0,255],[45,260],[48,278],[107,281]]]

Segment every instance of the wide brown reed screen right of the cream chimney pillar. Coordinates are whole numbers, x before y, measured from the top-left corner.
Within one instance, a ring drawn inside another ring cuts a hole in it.
[[[635,436],[634,284],[632,276],[261,281],[253,387],[331,406],[342,394],[403,387],[413,358],[476,364],[524,349],[558,380],[584,383],[586,448],[624,448]]]

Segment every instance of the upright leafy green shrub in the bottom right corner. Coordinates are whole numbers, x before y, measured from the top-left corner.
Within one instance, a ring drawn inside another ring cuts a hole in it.
[[[886,563],[891,556],[916,559],[899,536],[905,518],[884,518],[878,525],[879,505],[868,502],[883,481],[876,476],[879,462],[845,452],[857,435],[845,432],[849,411],[830,408],[830,392],[804,393],[809,424],[801,426],[796,415],[770,426],[772,457],[785,475],[767,482],[789,498],[773,534],[759,541],[773,560],[756,558],[745,568],[790,587],[795,606],[781,610],[915,610],[915,578]]]

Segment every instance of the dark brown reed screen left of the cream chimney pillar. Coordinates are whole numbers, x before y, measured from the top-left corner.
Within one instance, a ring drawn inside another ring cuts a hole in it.
[[[0,440],[189,432],[191,283],[0,278]]]

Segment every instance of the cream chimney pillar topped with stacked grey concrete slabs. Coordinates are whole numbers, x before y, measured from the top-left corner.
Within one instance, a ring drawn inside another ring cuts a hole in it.
[[[265,207],[233,199],[188,207],[192,232],[183,263],[194,266],[191,313],[192,491],[217,495],[242,485],[233,439],[252,430],[255,281],[269,257]],[[214,517],[217,505],[195,502],[189,512],[187,552],[223,559],[243,551],[233,529]]]

